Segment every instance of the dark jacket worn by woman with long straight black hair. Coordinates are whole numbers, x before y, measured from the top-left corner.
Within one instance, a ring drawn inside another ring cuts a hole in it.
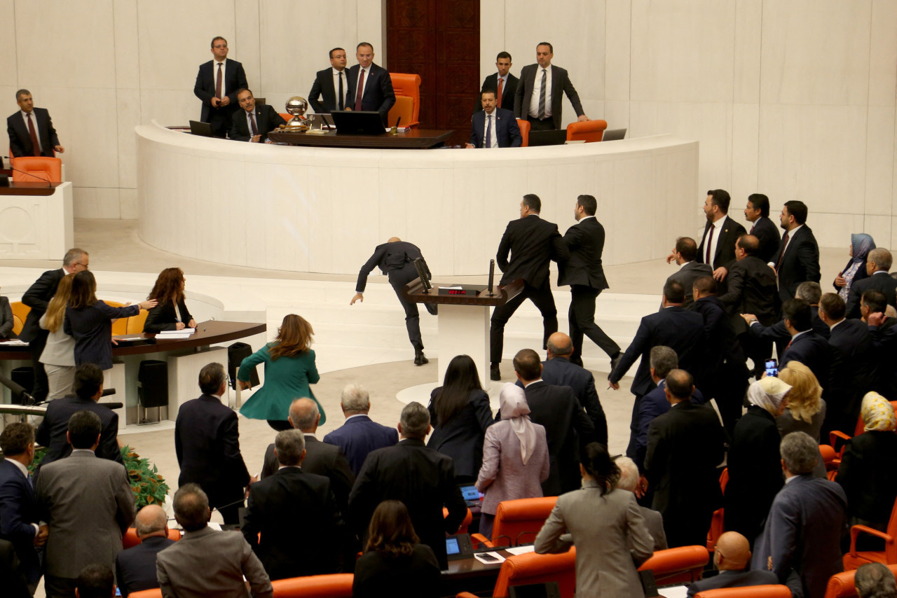
[[[440,421],[434,404],[442,387],[434,388],[430,394],[430,424],[433,432],[427,446],[451,457],[455,464],[455,475],[475,480],[483,465],[483,438],[486,429],[495,421],[489,394],[483,390],[472,390],[467,403],[448,421]]]

